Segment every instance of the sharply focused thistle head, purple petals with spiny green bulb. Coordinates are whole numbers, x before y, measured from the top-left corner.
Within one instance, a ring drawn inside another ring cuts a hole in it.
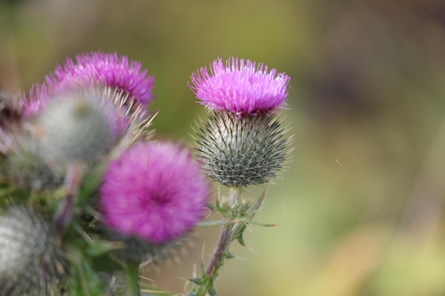
[[[277,109],[290,77],[247,60],[221,59],[191,75],[191,90],[210,109],[198,131],[198,157],[215,181],[229,187],[269,182],[286,159]]]

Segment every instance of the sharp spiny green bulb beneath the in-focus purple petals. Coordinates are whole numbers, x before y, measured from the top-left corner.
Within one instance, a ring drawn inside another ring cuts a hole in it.
[[[281,125],[272,114],[237,118],[228,111],[212,111],[197,138],[204,170],[229,187],[269,182],[286,159]]]

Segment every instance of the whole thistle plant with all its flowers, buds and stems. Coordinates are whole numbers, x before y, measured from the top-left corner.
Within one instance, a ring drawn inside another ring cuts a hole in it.
[[[277,114],[289,79],[235,57],[193,73],[188,85],[209,109],[196,128],[198,160],[150,138],[154,77],[128,57],[83,53],[27,94],[0,90],[0,296],[151,293],[141,268],[176,259],[195,226],[220,225],[186,294],[216,295],[230,243],[245,245],[265,197],[242,190],[286,160]],[[229,187],[215,204],[205,174]],[[202,221],[206,211],[222,220]]]

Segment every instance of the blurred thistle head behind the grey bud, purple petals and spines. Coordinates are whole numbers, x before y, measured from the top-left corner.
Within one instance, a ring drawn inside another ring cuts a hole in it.
[[[43,84],[33,85],[25,96],[23,114],[38,114],[46,101],[70,89],[103,89],[114,109],[126,114],[129,136],[139,137],[152,119],[147,106],[155,98],[153,87],[154,77],[141,70],[140,62],[117,53],[84,53],[77,55],[75,62],[68,58],[63,66],[57,65]]]

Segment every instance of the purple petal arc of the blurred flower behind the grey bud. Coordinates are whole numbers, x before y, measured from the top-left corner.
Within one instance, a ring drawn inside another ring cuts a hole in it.
[[[53,94],[90,87],[122,91],[143,109],[154,100],[151,94],[154,76],[147,76],[147,71],[141,70],[140,62],[119,57],[117,53],[84,53],[77,55],[75,62],[68,58],[63,66],[57,65],[55,71],[45,77],[44,84],[33,86],[29,97],[25,96],[23,114],[37,114]]]

